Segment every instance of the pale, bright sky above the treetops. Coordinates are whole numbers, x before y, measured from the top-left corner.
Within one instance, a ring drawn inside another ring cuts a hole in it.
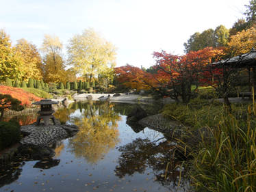
[[[16,44],[42,45],[44,34],[64,47],[75,34],[93,28],[117,48],[117,66],[153,66],[154,51],[183,55],[195,32],[228,29],[249,0],[0,0],[0,29]],[[65,53],[65,50],[64,50]]]

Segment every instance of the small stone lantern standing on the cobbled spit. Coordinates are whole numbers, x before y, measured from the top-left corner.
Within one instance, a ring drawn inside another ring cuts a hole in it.
[[[41,105],[41,110],[38,111],[40,114],[38,119],[36,120],[36,124],[40,124],[40,120],[44,120],[44,125],[47,126],[49,124],[49,120],[53,120],[53,124],[56,124],[56,119],[53,116],[54,109],[51,107],[53,104],[58,104],[57,101],[53,101],[51,99],[42,99],[38,102],[32,103],[34,105]]]

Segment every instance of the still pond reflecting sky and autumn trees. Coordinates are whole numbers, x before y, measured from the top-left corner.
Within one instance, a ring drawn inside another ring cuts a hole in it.
[[[129,126],[133,107],[75,102],[57,110],[60,122],[79,126],[77,135],[51,146],[51,159],[19,156],[1,165],[0,191],[189,191],[176,143],[150,128]],[[140,107],[152,114],[158,106]],[[29,124],[36,115],[16,118]]]

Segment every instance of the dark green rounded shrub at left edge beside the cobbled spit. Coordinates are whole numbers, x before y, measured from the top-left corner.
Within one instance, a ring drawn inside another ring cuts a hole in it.
[[[0,150],[21,139],[20,125],[17,122],[0,122]]]

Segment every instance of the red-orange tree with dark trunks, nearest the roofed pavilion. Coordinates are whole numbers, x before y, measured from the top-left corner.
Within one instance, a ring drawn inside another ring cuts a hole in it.
[[[182,56],[165,51],[155,52],[153,55],[157,62],[158,78],[162,78],[170,88],[169,96],[177,101],[181,98],[182,102],[189,102],[197,92],[206,66],[220,59],[223,50],[207,47]],[[196,85],[195,90],[192,90],[192,85]]]

